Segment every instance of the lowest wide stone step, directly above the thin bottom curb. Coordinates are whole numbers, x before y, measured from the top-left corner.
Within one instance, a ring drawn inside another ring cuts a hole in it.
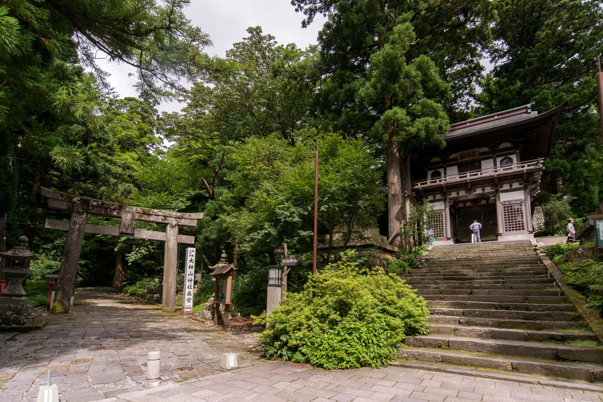
[[[555,362],[552,360],[529,359],[525,357],[498,357],[482,353],[412,347],[399,348],[397,357],[405,360],[420,360],[421,362],[447,363],[459,366],[522,372],[525,374],[576,378],[577,380],[603,380],[602,366],[585,363]],[[546,397],[542,400],[546,400]]]

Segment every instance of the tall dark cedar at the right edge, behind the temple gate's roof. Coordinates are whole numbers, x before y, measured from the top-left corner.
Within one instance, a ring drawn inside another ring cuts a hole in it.
[[[480,112],[530,102],[540,111],[563,105],[543,188],[573,196],[578,215],[594,212],[603,196],[595,82],[596,57],[603,52],[601,3],[503,0],[497,11],[487,48],[496,65],[481,81]]]

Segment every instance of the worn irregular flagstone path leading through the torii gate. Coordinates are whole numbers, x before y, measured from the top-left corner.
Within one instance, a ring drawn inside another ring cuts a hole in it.
[[[48,369],[61,400],[85,402],[145,389],[147,352],[162,351],[163,383],[222,372],[219,358],[235,351],[239,365],[260,363],[253,339],[162,313],[161,307],[110,288],[78,289],[66,315],[47,315],[42,330],[0,334],[0,401],[34,400]]]

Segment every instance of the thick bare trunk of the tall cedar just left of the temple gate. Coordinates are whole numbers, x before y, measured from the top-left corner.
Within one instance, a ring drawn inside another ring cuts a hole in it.
[[[400,147],[397,141],[388,139],[385,144],[387,166],[387,218],[390,244],[402,247],[400,228],[403,222],[402,177],[400,169]]]

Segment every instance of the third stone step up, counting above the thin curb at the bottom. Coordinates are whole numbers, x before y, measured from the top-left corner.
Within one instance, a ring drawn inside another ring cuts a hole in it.
[[[509,328],[470,327],[466,325],[429,324],[434,335],[454,335],[468,338],[504,339],[522,342],[559,342],[569,344],[576,341],[594,341],[591,332],[535,331]]]

